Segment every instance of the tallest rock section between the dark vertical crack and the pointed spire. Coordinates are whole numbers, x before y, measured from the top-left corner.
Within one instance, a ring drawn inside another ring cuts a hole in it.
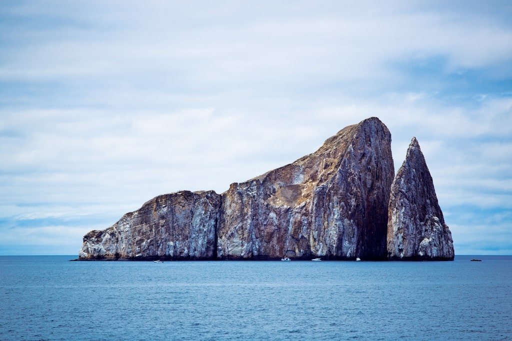
[[[377,118],[348,126],[223,193],[218,257],[386,259],[393,177],[388,128]]]

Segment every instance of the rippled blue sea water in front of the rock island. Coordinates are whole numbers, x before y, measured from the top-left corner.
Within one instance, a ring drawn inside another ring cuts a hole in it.
[[[69,262],[0,257],[1,340],[510,340],[512,257]]]

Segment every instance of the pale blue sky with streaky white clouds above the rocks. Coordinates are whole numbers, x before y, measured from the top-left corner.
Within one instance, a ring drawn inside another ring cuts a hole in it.
[[[77,255],[378,117],[456,255],[512,255],[512,2],[0,2],[0,255]]]

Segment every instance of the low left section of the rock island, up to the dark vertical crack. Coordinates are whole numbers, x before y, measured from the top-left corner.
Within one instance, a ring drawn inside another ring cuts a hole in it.
[[[79,259],[211,259],[221,196],[213,191],[157,196],[103,231],[83,237]]]

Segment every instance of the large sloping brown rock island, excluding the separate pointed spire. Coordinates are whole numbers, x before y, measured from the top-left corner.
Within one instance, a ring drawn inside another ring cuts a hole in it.
[[[397,258],[389,250],[393,179],[391,133],[369,118],[222,194],[158,196],[110,228],[86,234],[79,259]]]

